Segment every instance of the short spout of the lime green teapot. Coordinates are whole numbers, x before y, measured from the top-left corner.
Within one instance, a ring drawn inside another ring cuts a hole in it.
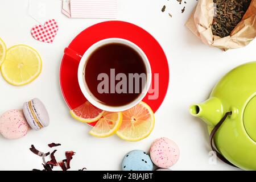
[[[202,104],[192,105],[189,110],[193,116],[203,119],[207,125],[212,127],[220,122],[224,113],[222,103],[216,97],[209,98]]]

